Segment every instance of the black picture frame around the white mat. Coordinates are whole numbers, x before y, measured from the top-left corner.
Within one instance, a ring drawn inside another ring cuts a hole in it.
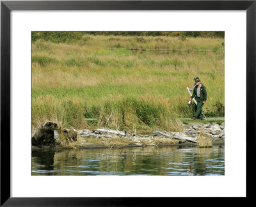
[[[10,197],[10,12],[12,10],[245,10],[246,198],[255,181],[256,2],[253,1],[1,1],[1,206],[148,206],[166,197]],[[239,82],[239,81],[237,81]],[[244,87],[244,86],[243,86]],[[236,97],[235,97],[236,98]],[[236,173],[236,172],[234,172]]]

